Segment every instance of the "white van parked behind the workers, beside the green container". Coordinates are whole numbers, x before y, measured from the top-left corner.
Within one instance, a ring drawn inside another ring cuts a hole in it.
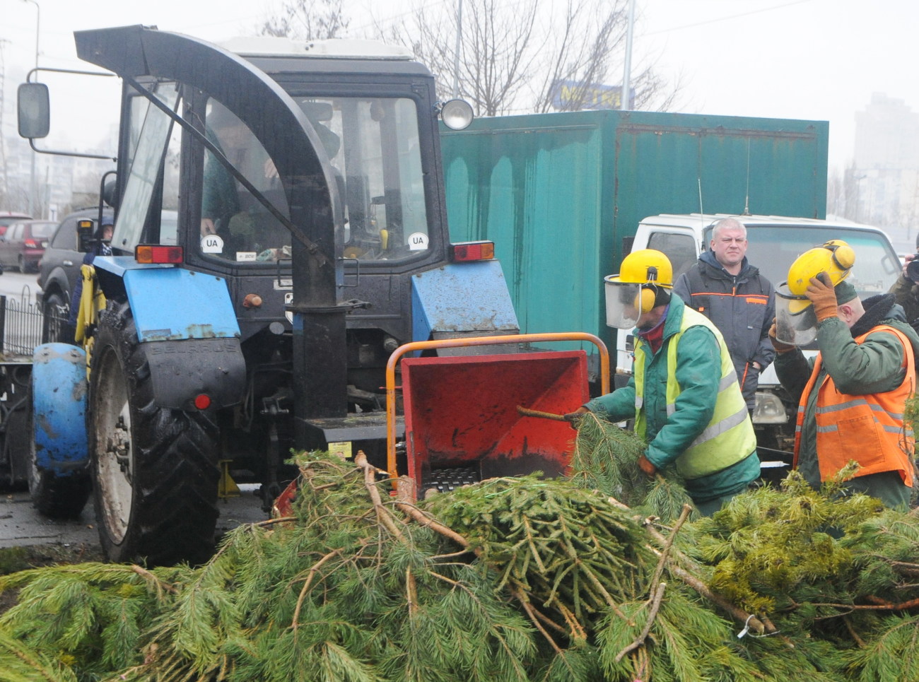
[[[655,215],[639,223],[631,250],[657,249],[670,258],[674,280],[686,272],[711,242],[711,225],[721,218],[736,218],[747,228],[747,259],[778,287],[788,278],[789,267],[808,249],[830,239],[842,239],[856,252],[848,281],[862,299],[886,293],[900,274],[902,261],[886,233],[878,228],[845,221],[820,221],[764,215],[726,213]],[[617,335],[617,384],[631,374],[632,336]],[[813,352],[811,348],[811,352]],[[778,385],[771,366],[759,378],[753,421],[760,455],[788,460],[794,446],[797,404]]]

